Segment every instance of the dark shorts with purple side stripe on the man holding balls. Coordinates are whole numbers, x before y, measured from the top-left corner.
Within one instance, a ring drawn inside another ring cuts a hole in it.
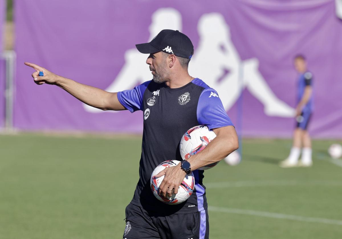
[[[208,210],[159,216],[130,203],[126,207],[126,227],[123,238],[208,239]]]

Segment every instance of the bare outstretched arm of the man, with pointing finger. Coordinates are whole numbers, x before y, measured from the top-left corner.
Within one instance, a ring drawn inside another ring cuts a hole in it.
[[[117,93],[106,92],[105,90],[64,78],[63,76],[56,75],[36,64],[25,62],[25,65],[36,70],[32,73],[32,77],[37,85],[42,85],[44,83],[57,85],[80,101],[101,110],[126,109],[119,102]],[[39,76],[39,71],[42,71],[44,76]]]

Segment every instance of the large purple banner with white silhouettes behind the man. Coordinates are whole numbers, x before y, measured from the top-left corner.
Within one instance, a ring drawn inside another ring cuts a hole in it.
[[[99,112],[56,86],[37,86],[23,62],[108,91],[130,89],[152,79],[134,45],[167,28],[192,39],[190,73],[218,90],[244,136],[291,136],[298,53],[314,74],[312,135],[342,135],[342,23],[333,0],[22,0],[15,16],[17,128],[142,132],[142,112]]]

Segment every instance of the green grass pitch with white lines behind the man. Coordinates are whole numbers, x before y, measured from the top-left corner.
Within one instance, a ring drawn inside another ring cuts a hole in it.
[[[313,142],[312,168],[282,169],[289,140],[244,140],[240,165],[205,173],[210,238],[342,238],[332,142]],[[141,137],[0,136],[0,238],[122,238],[140,153]]]

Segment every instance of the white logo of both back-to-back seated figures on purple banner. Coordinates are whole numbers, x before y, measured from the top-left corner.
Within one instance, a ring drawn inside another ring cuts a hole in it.
[[[181,31],[181,27],[181,14],[177,10],[158,9],[152,15],[149,41],[161,29]],[[189,73],[194,77],[198,76],[210,87],[216,89],[227,111],[237,101],[242,90],[247,88],[264,105],[266,115],[294,116],[294,109],[280,100],[267,85],[258,70],[259,60],[257,58],[241,60],[231,40],[229,26],[221,14],[203,14],[198,22],[198,34],[199,44],[190,61]],[[118,92],[131,89],[139,83],[152,79],[145,61],[145,54],[139,53],[135,48],[127,50],[124,66],[114,82],[105,90]],[[88,112],[103,112],[86,104],[84,107]]]

